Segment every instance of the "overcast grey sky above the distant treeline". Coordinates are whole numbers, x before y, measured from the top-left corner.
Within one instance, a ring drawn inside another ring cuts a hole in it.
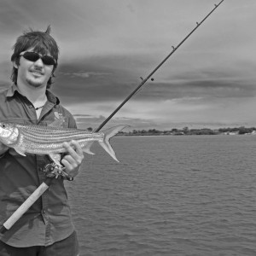
[[[96,128],[220,0],[2,0],[0,87],[28,28],[60,48],[53,92]],[[256,126],[256,1],[224,0],[108,125],[132,129]]]

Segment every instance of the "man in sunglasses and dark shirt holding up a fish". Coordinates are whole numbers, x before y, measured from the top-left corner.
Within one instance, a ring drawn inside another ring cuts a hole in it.
[[[17,38],[11,57],[14,84],[0,92],[1,121],[50,125],[55,119],[62,119],[63,127],[76,128],[71,113],[49,91],[59,55],[49,32],[50,27],[46,32],[31,30]],[[68,153],[61,163],[68,176],[75,177],[84,158],[82,148],[77,142],[63,146]],[[44,182],[44,166],[50,162],[48,155],[22,156],[0,143],[0,224]],[[78,254],[78,241],[61,178],[53,178],[44,195],[10,230],[0,235],[0,256]]]

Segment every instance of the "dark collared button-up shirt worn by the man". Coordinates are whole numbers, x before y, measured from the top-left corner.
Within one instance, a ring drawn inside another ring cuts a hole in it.
[[[57,97],[46,91],[48,101],[40,118],[32,103],[20,95],[15,85],[0,92],[0,120],[9,123],[49,125],[65,118],[64,127],[76,128],[71,113]],[[9,149],[0,158],[0,224],[2,225],[26,198],[44,182],[43,168],[48,155],[22,156]],[[73,233],[74,226],[67,192],[62,179],[55,179],[44,195],[0,239],[13,247],[49,246]]]

